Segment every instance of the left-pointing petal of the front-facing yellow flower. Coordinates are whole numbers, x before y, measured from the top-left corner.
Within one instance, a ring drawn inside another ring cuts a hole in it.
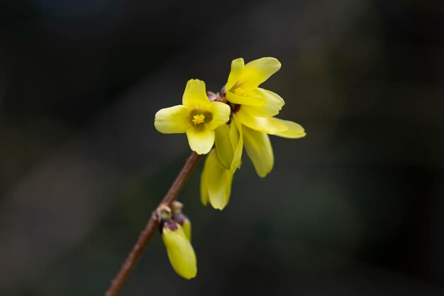
[[[160,109],[155,115],[154,126],[161,133],[184,133],[190,126],[189,110],[182,105]]]

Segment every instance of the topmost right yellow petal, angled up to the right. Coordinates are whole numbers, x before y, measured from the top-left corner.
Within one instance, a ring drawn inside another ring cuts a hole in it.
[[[243,70],[240,86],[246,89],[255,89],[262,82],[265,82],[271,75],[281,68],[281,63],[274,57],[262,57],[252,60]]]

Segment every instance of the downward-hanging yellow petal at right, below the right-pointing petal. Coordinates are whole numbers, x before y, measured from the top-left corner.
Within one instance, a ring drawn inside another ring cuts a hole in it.
[[[257,175],[265,177],[274,163],[273,148],[266,133],[242,126],[245,150],[255,166]]]

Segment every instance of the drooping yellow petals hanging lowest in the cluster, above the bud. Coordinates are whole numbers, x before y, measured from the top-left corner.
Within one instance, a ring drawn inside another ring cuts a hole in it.
[[[201,189],[206,190],[204,194],[208,194],[208,199],[213,208],[223,209],[228,204],[233,173],[232,170],[221,167],[216,151],[211,150],[205,160],[201,177],[201,182],[205,182],[205,184],[201,184]],[[203,198],[201,197],[201,199]]]

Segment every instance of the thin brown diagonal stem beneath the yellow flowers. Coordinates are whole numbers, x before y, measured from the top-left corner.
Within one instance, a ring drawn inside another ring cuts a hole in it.
[[[172,183],[170,189],[168,190],[165,197],[163,197],[162,204],[171,204],[175,199],[177,199],[177,195],[184,187],[185,183],[189,179],[189,176],[192,175],[194,168],[196,168],[197,163],[201,155],[193,152],[192,155],[189,155],[187,162],[184,164],[182,170],[180,170],[179,175],[177,175],[176,180]],[[105,296],[116,296],[121,291],[123,285],[126,282],[126,279],[131,274],[134,266],[138,263],[140,257],[142,256],[143,251],[146,246],[150,242],[152,235],[157,230],[159,226],[159,221],[157,221],[157,217],[153,212],[152,216],[148,220],[148,223],[145,226],[145,229],[140,233],[139,238],[135,245],[133,246],[133,250],[128,254],[126,261],[122,264],[121,270],[118,271],[116,278],[111,281],[111,285],[109,289],[106,291]]]

